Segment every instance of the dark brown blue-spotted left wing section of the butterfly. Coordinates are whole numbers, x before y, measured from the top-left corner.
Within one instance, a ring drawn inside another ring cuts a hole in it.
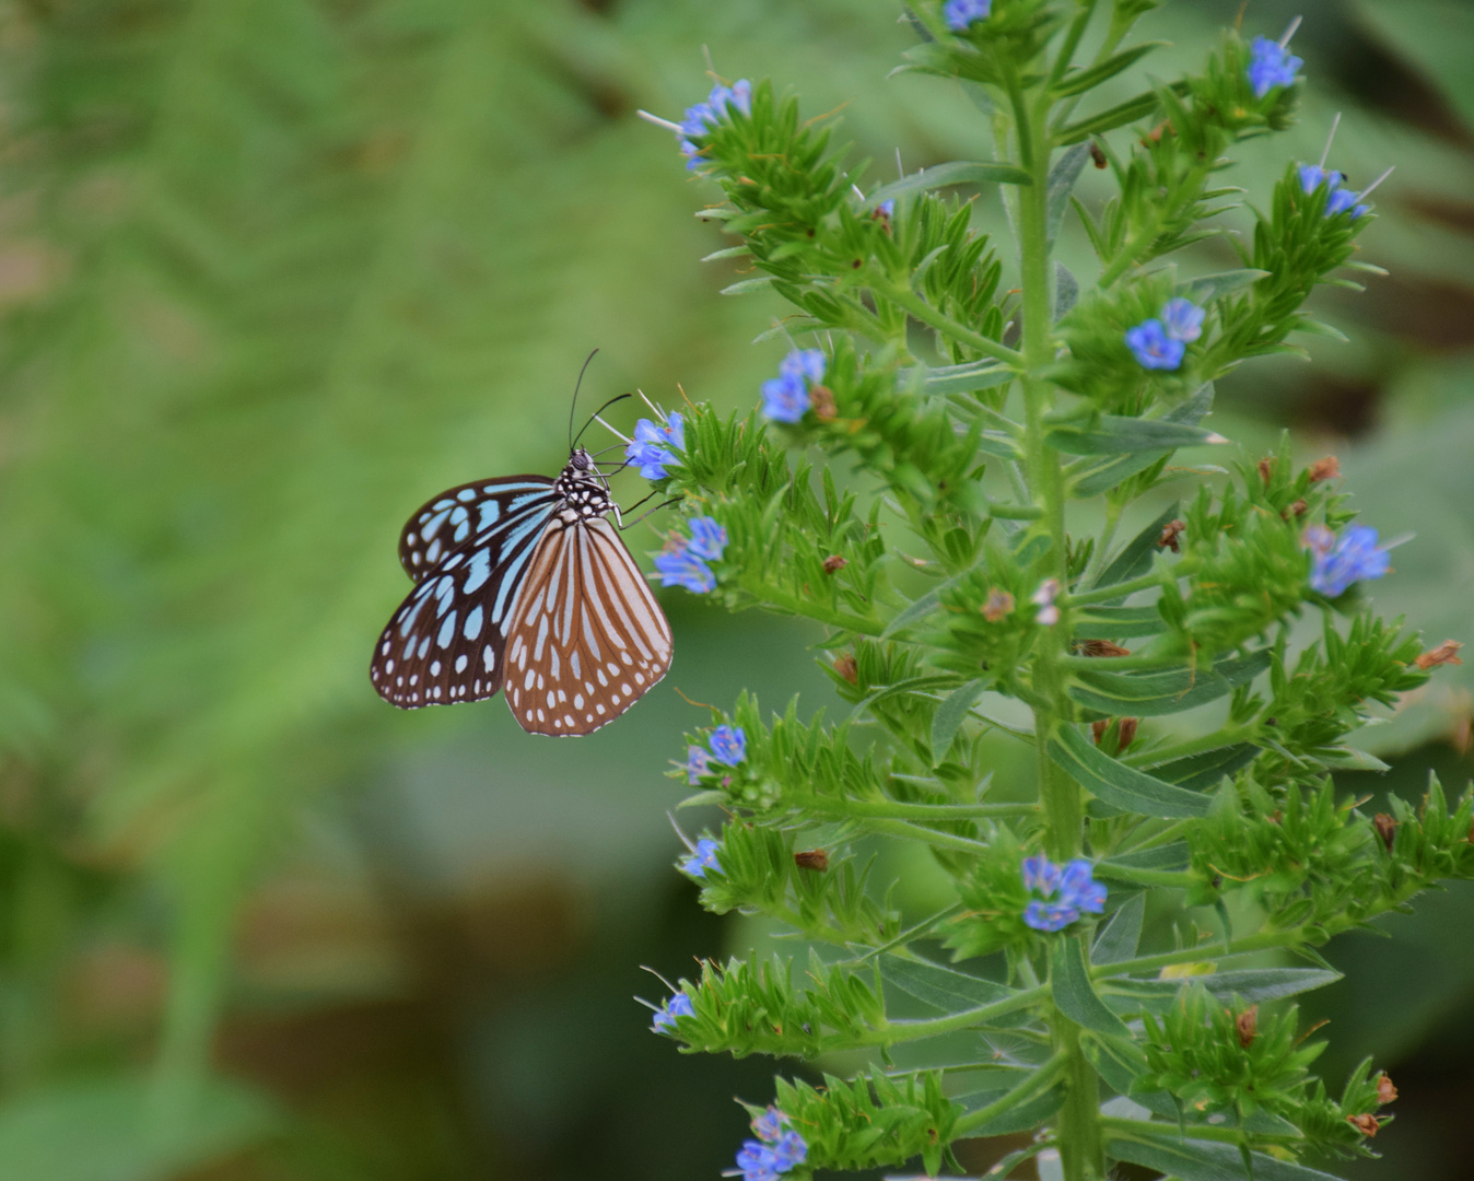
[[[460,497],[466,490],[476,497]],[[417,585],[374,647],[368,675],[380,697],[417,709],[475,702],[501,689],[517,590],[556,504],[553,481],[514,476],[453,488],[410,519],[399,557]],[[416,575],[432,553],[439,560]]]

